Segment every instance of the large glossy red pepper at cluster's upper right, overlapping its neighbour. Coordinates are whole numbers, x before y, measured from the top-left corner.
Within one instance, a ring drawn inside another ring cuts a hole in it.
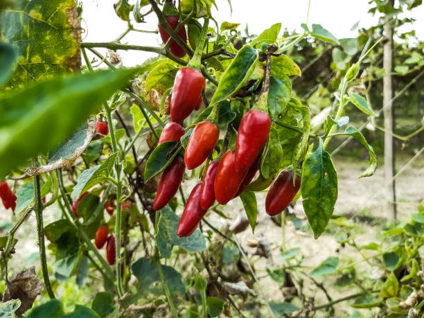
[[[271,129],[268,114],[251,109],[243,116],[236,140],[236,169],[249,169],[267,143]]]

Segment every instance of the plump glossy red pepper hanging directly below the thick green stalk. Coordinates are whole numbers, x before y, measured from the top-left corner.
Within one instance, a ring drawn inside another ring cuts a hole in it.
[[[205,85],[202,72],[197,69],[183,67],[177,71],[170,103],[172,121],[175,123],[184,121],[193,109],[198,107],[200,94]]]

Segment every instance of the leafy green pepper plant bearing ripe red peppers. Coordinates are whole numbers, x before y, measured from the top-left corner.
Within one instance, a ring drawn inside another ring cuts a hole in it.
[[[13,294],[14,236],[35,213],[39,292],[52,299],[28,317],[63,317],[53,299],[60,281],[73,276],[80,286],[94,280],[105,288],[91,308],[77,306],[73,315],[215,317],[223,307],[231,315],[238,308],[228,292],[213,292],[222,283],[205,256],[215,244],[211,233],[227,237],[208,222],[211,214],[225,216],[225,204],[240,197],[254,231],[258,213],[278,215],[302,200],[318,238],[337,200],[330,140],[352,136],[369,152],[360,177],[376,170],[373,148],[348,126],[344,108],[352,103],[374,115],[364,96],[348,87],[380,39],[370,39],[352,62],[323,133],[316,134],[308,105],[292,94],[301,70],[286,53],[309,37],[338,45],[323,26],[302,24],[302,33],[285,37],[279,23],[241,38],[238,24],[217,24],[211,0],[120,0],[114,10],[127,30],[111,42],[89,43],[81,39],[81,8],[72,0],[6,6],[0,13],[0,57],[7,65],[0,76],[0,177],[1,189],[15,184],[17,200],[10,202],[9,190],[0,196],[6,208],[16,204],[17,216],[0,240],[1,270]],[[156,15],[163,45],[124,44],[147,15]],[[157,57],[117,67],[97,48]],[[266,206],[258,206],[256,193],[270,186]],[[58,217],[45,225],[48,207]],[[183,277],[169,262],[182,254],[201,258],[209,279],[186,263],[191,272]],[[10,301],[10,312],[21,315],[35,297],[24,302],[12,295],[21,301]]]

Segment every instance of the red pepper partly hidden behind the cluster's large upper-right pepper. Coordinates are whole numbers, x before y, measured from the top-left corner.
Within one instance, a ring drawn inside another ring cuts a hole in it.
[[[227,150],[222,156],[215,176],[213,185],[215,199],[220,204],[227,204],[236,195],[246,174],[247,169],[236,170],[236,154]]]

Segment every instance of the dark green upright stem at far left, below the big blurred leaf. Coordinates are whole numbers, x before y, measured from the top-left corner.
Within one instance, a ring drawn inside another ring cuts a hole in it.
[[[37,159],[34,160],[34,166],[38,166]],[[48,297],[50,297],[50,299],[55,299],[55,294],[51,289],[50,279],[48,279],[46,245],[44,244],[43,202],[41,198],[41,186],[39,184],[39,175],[34,176],[34,200],[35,218],[37,220],[39,258],[41,260],[42,265],[44,285],[46,286]]]

